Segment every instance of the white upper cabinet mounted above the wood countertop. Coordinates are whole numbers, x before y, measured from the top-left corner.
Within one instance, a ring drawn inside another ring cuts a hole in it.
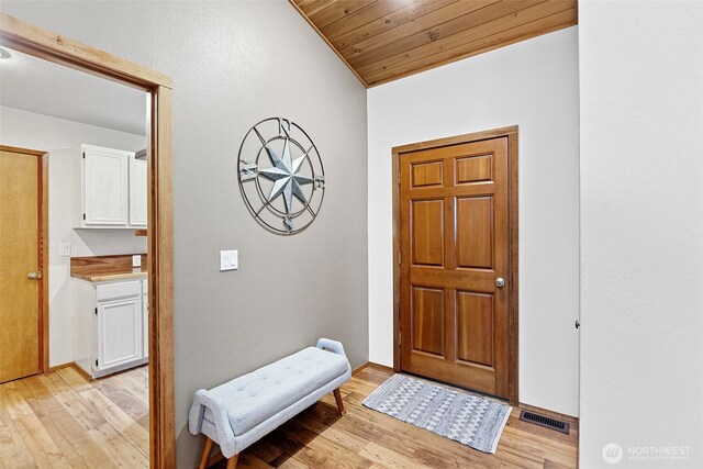
[[[81,145],[75,158],[75,227],[146,226],[146,161],[134,153]]]

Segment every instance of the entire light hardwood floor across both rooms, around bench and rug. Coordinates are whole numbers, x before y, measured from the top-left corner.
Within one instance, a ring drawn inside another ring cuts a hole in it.
[[[514,410],[495,455],[368,410],[361,401],[392,371],[369,366],[334,398],[253,445],[239,468],[573,468],[569,435],[518,420]],[[86,381],[72,368],[0,386],[0,467],[147,467],[146,367]],[[222,465],[222,462],[219,462]]]

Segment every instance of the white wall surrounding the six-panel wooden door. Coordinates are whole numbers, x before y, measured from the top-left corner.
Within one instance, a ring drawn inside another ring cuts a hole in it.
[[[577,27],[371,88],[369,359],[392,365],[391,147],[520,125],[520,399],[578,414]]]

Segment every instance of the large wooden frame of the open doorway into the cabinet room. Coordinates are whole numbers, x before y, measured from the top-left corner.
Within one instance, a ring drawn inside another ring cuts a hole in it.
[[[176,467],[174,403],[172,80],[158,71],[0,13],[0,45],[146,91],[149,99],[147,263],[149,460]]]

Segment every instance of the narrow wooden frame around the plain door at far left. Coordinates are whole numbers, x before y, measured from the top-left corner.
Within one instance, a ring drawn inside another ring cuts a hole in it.
[[[38,159],[37,171],[37,228],[38,237],[38,265],[42,272],[40,283],[38,305],[38,370],[40,373],[48,371],[48,153],[40,149],[19,148],[15,146],[0,145],[1,152],[18,153],[27,156],[36,156]]]

